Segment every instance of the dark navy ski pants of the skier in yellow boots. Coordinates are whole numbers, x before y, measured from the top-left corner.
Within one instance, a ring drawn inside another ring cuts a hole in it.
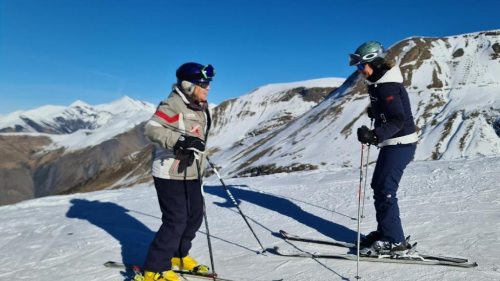
[[[149,246],[143,269],[163,272],[171,269],[172,257],[189,253],[203,221],[203,197],[197,179],[153,179],[162,223]]]

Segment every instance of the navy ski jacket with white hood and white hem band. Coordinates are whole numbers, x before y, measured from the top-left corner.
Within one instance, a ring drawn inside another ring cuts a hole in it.
[[[367,82],[378,143],[415,133],[408,93],[402,81],[399,67],[393,66],[376,82]],[[416,141],[416,134],[414,138]]]

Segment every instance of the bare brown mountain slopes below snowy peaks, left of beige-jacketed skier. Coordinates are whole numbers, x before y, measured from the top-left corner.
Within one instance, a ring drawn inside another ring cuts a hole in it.
[[[43,152],[51,143],[45,136],[0,135],[0,157],[4,159],[0,162],[0,195],[4,195],[0,204],[99,190],[127,174],[140,182],[149,169],[149,160],[143,158],[150,159],[150,150],[141,150],[147,145],[142,130],[143,123],[98,145],[71,152],[64,148]]]

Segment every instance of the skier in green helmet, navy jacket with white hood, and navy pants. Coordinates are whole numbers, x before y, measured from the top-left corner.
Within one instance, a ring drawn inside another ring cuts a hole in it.
[[[384,57],[383,46],[374,41],[349,54],[349,64],[356,65],[366,79],[371,104],[368,116],[374,119],[374,129],[359,127],[357,139],[381,147],[371,179],[377,230],[361,240],[368,247],[360,252],[367,255],[397,253],[409,247],[399,218],[396,191],[415,153],[418,137],[401,71]]]

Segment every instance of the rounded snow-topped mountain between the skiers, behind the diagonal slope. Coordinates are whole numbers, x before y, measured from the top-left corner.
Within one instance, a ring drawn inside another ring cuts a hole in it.
[[[339,87],[343,78],[269,84],[214,108],[210,142],[218,149],[265,134],[295,119]]]

